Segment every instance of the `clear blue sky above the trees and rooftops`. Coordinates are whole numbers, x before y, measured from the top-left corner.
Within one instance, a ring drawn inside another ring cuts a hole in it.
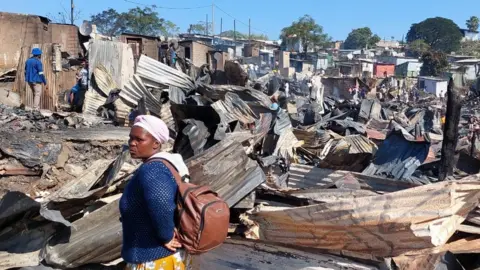
[[[35,14],[49,17],[69,10],[70,0],[0,0],[0,11]],[[233,30],[233,20],[237,20],[237,31],[248,33],[248,20],[251,20],[252,33],[266,34],[270,39],[278,39],[283,27],[289,26],[301,16],[311,15],[323,26],[324,32],[333,40],[345,40],[355,28],[370,27],[382,39],[402,40],[412,23],[429,17],[452,19],[461,28],[470,16],[480,17],[478,0],[74,0],[81,12],[80,19],[88,20],[91,15],[108,8],[118,12],[142,5],[156,5],[157,12],[166,20],[174,22],[181,32],[199,21],[212,19],[212,2],[215,4],[215,33]]]

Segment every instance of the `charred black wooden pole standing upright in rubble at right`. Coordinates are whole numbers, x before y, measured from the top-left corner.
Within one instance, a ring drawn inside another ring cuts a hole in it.
[[[460,123],[460,110],[462,100],[458,90],[454,88],[453,79],[448,82],[447,90],[447,113],[445,115],[445,127],[443,131],[442,158],[438,180],[443,181],[453,175],[455,167],[455,147],[458,140],[458,124]]]

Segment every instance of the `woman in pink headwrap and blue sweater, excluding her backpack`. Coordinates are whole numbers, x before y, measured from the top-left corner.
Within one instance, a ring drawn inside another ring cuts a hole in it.
[[[136,171],[120,199],[123,227],[122,257],[128,270],[183,270],[187,254],[179,250],[174,213],[178,186],[161,161],[146,162],[159,155],[169,138],[165,123],[140,115],[130,131],[130,154],[145,163]],[[162,153],[161,155],[165,155]]]

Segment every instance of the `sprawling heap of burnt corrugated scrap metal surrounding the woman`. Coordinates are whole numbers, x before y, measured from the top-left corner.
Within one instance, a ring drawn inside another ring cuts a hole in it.
[[[112,81],[98,72],[99,87]],[[192,182],[210,185],[232,209],[231,238],[196,258],[199,269],[480,265],[469,255],[480,253],[480,166],[468,152],[477,148],[461,134],[458,179],[436,180],[443,138],[437,100],[357,104],[348,89],[358,79],[269,74],[240,86],[244,76],[226,75],[230,85],[206,84],[142,55],[118,92],[120,110],[167,123],[172,143],[164,150],[180,153]],[[111,263],[122,244],[118,201],[139,166],[122,149],[128,128],[27,134],[43,147],[35,159],[32,151],[9,152],[12,140],[0,150],[4,159],[30,161],[24,166],[40,170],[39,181],[62,170],[59,160],[85,164],[79,156],[91,150],[79,140],[116,147],[49,193],[3,196],[0,269],[121,269]],[[77,152],[62,157],[72,147]]]

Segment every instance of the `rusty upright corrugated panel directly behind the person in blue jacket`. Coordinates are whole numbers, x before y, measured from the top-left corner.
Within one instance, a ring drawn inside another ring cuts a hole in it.
[[[57,74],[53,71],[53,46],[50,43],[47,44],[34,44],[32,46],[25,46],[22,48],[22,56],[17,69],[16,90],[20,92],[22,103],[27,107],[33,106],[33,91],[30,86],[25,82],[25,62],[31,56],[33,48],[40,48],[42,54],[42,64],[44,76],[47,80],[48,90],[43,87],[42,97],[40,99],[40,108],[54,111],[57,107]]]

